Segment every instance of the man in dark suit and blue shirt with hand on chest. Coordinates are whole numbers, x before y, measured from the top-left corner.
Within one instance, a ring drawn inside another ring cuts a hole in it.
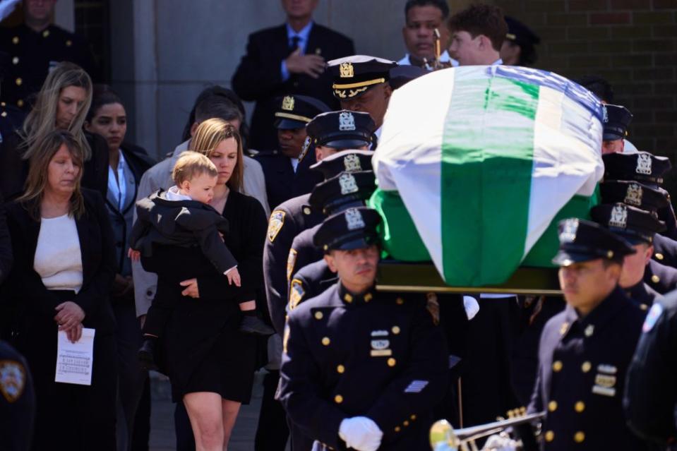
[[[242,100],[256,102],[251,117],[253,149],[277,147],[272,126],[276,97],[308,95],[338,109],[325,61],[355,51],[352,40],[313,21],[317,4],[318,0],[282,0],[287,23],[249,36],[247,53],[233,76],[232,86]]]

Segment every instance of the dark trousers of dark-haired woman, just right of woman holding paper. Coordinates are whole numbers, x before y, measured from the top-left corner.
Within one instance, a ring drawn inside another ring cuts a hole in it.
[[[131,450],[136,410],[148,372],[138,361],[141,330],[133,299],[113,298],[118,353],[117,444],[119,451]]]

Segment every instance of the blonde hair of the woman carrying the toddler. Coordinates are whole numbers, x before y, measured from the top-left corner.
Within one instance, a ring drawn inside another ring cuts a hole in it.
[[[200,152],[209,158],[222,141],[230,138],[234,138],[235,143],[237,143],[237,161],[227,186],[235,191],[241,191],[244,176],[244,155],[242,153],[242,138],[234,126],[218,118],[201,122],[195,134],[193,134],[188,150]]]

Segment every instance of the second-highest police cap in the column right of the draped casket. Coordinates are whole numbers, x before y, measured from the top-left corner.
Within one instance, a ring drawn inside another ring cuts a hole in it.
[[[667,157],[657,157],[649,152],[608,153],[602,155],[605,180],[634,180],[657,188],[672,164]]]

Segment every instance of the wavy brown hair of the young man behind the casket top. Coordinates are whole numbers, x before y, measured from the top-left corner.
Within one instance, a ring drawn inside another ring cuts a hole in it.
[[[503,10],[498,6],[477,4],[451,16],[449,29],[452,32],[467,31],[473,38],[479,35],[489,37],[491,47],[500,52],[508,33],[508,24],[503,18]]]

